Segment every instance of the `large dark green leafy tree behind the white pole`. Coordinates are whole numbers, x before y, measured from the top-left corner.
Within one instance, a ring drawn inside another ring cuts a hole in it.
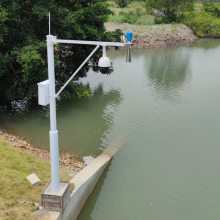
[[[48,12],[52,34],[59,38],[115,39],[115,35],[104,29],[111,13],[104,1],[0,0],[0,106],[13,100],[36,99],[37,83],[47,79]],[[57,85],[69,78],[92,49],[91,46],[56,45]],[[87,70],[88,66],[81,76]],[[69,91],[76,92],[76,88],[72,84]]]

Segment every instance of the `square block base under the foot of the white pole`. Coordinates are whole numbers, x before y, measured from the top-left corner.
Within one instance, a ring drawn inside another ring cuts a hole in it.
[[[53,193],[51,183],[49,183],[41,194],[41,205],[48,211],[64,212],[70,200],[70,184],[68,182],[60,183],[60,191]]]

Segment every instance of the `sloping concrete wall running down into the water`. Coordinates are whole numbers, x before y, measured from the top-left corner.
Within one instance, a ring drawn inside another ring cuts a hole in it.
[[[118,146],[107,148],[100,156],[71,179],[70,185],[74,187],[72,187],[73,191],[69,199],[67,198],[65,201],[66,206],[64,211],[57,213],[48,212],[47,216],[49,215],[52,220],[76,220],[86,200],[92,193],[103,171],[110,163],[118,148]],[[53,217],[51,218],[51,216]],[[41,216],[40,219],[44,219],[44,216]]]

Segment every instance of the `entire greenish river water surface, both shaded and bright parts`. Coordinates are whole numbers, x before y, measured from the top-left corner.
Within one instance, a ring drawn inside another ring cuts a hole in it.
[[[79,220],[219,220],[220,41],[124,54],[110,52],[111,75],[81,80],[91,97],[58,104],[61,150],[120,146]],[[47,110],[0,125],[48,147]]]

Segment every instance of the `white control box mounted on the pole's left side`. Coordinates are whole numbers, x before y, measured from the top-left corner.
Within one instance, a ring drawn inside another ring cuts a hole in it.
[[[40,82],[38,85],[38,104],[46,106],[49,104],[49,80]]]

